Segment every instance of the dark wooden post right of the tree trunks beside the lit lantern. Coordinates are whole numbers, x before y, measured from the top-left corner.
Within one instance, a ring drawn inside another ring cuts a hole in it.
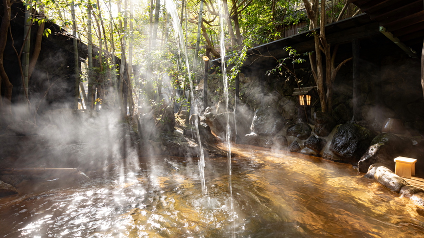
[[[361,120],[361,108],[359,97],[361,95],[361,79],[359,75],[359,50],[360,43],[358,39],[352,41],[352,55],[353,55],[353,118],[352,120]]]

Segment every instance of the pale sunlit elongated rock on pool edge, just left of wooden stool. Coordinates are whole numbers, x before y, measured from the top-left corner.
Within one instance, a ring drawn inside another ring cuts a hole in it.
[[[379,164],[371,165],[366,177],[374,177],[379,183],[395,193],[399,193],[403,186],[409,185],[400,176],[393,173],[393,171]]]

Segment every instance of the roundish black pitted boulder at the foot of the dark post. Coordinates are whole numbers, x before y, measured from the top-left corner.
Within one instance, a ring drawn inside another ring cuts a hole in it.
[[[344,162],[356,165],[367,151],[372,139],[371,131],[356,124],[348,123],[338,127],[331,140],[330,151]]]

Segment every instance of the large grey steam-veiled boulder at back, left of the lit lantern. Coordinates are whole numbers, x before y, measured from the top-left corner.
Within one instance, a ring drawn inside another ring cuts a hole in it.
[[[250,130],[259,135],[274,136],[284,126],[284,118],[277,109],[259,108],[255,111]]]

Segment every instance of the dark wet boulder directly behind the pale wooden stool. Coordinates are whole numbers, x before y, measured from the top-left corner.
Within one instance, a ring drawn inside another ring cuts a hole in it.
[[[358,162],[358,172],[366,173],[370,165],[381,163],[386,167],[394,169],[394,159],[406,151],[409,151],[412,144],[397,135],[391,133],[381,133],[371,142],[371,146]]]

